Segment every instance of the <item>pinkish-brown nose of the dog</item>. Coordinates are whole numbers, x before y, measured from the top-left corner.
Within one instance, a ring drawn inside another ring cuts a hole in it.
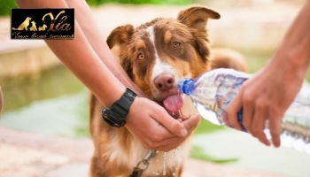
[[[159,91],[166,91],[174,87],[174,76],[170,73],[161,74],[153,82]]]

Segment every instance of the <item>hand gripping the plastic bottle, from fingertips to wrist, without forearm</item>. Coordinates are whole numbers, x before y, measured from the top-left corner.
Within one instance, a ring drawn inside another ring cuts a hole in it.
[[[245,81],[236,97],[227,107],[230,126],[241,129],[236,112],[243,107],[243,124],[246,130],[260,142],[270,145],[263,130],[266,120],[275,147],[280,146],[281,122],[284,112],[291,105],[302,84],[303,77],[290,71],[291,66],[269,63]]]

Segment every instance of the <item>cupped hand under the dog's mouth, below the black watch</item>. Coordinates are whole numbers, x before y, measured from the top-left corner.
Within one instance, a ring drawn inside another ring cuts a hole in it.
[[[177,148],[197,127],[200,116],[172,118],[159,104],[136,97],[126,117],[126,127],[143,147],[169,151]]]

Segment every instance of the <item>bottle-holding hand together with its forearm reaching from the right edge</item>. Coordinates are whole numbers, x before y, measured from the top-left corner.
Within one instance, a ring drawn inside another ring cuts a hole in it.
[[[263,133],[269,120],[272,142],[280,146],[281,119],[297,95],[310,63],[310,1],[306,1],[270,62],[244,85],[227,108],[233,127],[240,128],[236,112],[244,106],[244,127],[269,145]]]

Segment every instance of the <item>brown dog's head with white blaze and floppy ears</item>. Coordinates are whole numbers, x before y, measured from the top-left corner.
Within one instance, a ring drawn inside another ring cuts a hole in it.
[[[210,69],[208,19],[220,14],[202,6],[190,7],[177,19],[153,19],[140,27],[115,28],[107,38],[117,58],[145,94],[161,102],[177,94],[176,84],[183,77],[196,77]]]

